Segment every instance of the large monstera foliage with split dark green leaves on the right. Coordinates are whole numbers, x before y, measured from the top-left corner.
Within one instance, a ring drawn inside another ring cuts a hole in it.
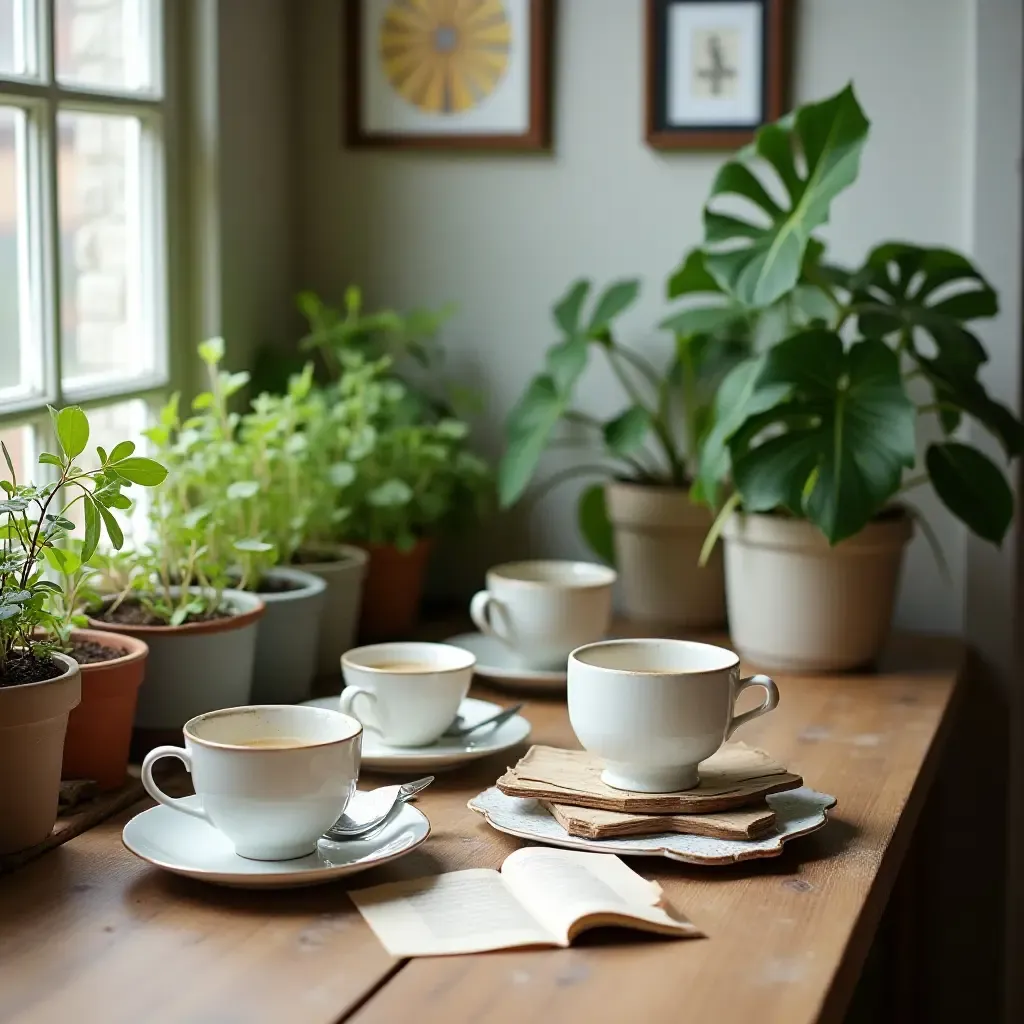
[[[805,518],[837,544],[929,481],[979,537],[998,544],[1010,525],[1004,470],[955,436],[970,418],[1008,460],[1024,450],[1024,425],[979,378],[973,323],[995,314],[991,286],[947,249],[885,243],[850,268],[813,234],[856,180],[868,128],[847,87],[762,128],[713,184],[703,260],[726,302],[756,314],[817,293],[821,311],[718,392],[699,459],[699,494],[719,512],[706,555],[737,508]],[[906,478],[922,416],[945,436]]]

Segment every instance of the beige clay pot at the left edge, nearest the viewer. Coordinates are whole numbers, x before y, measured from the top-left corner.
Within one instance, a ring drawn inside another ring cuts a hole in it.
[[[68,714],[82,697],[78,663],[54,654],[55,679],[0,686],[0,854],[42,843],[57,817]]]

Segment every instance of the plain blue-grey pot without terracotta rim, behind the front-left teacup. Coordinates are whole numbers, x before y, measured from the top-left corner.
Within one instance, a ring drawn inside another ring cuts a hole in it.
[[[291,589],[260,592],[266,611],[256,635],[253,703],[297,703],[310,695],[327,584],[301,569],[273,568],[267,584]]]

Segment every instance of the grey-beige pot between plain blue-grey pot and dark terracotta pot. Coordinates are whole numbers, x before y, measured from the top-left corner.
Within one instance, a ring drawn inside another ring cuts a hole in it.
[[[302,552],[301,567],[327,584],[316,645],[316,675],[337,676],[341,655],[355,646],[369,557],[361,548],[336,544]]]

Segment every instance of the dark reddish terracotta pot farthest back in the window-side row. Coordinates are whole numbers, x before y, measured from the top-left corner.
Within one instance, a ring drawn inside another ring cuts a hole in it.
[[[418,541],[411,551],[399,551],[390,544],[362,547],[370,564],[362,587],[359,637],[365,641],[406,637],[420,618],[420,598],[433,541]]]

